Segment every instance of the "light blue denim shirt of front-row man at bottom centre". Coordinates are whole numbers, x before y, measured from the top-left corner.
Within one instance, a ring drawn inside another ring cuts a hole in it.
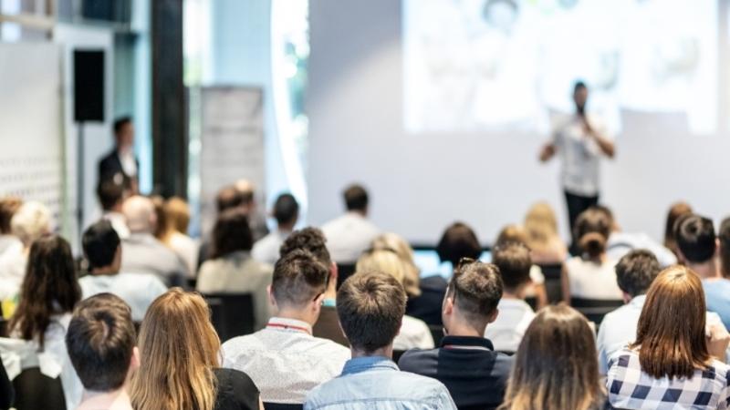
[[[373,356],[349,360],[342,374],[309,392],[304,409],[456,410],[456,405],[441,382]]]

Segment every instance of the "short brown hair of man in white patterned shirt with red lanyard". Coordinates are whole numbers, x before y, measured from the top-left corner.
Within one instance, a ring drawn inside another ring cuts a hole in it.
[[[276,261],[271,292],[279,305],[304,306],[327,288],[328,267],[309,251],[296,250]]]

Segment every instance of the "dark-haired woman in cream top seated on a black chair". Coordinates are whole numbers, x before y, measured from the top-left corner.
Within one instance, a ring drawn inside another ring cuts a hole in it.
[[[225,210],[215,221],[212,258],[200,267],[196,288],[203,294],[251,293],[254,328],[259,330],[271,317],[266,288],[272,268],[251,257],[253,241],[245,212]]]

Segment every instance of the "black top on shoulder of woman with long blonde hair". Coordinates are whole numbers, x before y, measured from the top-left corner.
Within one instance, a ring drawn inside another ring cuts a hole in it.
[[[218,380],[215,410],[258,410],[258,388],[248,375],[234,369],[214,369]]]

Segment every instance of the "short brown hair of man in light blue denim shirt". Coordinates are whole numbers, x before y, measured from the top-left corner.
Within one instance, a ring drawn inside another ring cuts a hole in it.
[[[406,294],[387,273],[357,272],[337,292],[337,313],[349,344],[366,353],[390,345],[401,330]]]

